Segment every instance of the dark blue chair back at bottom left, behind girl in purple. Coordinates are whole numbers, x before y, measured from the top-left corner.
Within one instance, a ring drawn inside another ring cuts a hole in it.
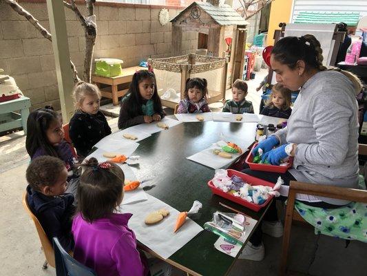
[[[57,237],[53,238],[53,242],[56,276],[97,276],[97,273],[92,268],[87,268],[87,266],[67,254]]]

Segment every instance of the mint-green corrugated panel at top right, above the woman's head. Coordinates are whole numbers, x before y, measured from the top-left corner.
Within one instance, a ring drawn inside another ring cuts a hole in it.
[[[300,12],[294,23],[340,23],[357,26],[359,12]]]

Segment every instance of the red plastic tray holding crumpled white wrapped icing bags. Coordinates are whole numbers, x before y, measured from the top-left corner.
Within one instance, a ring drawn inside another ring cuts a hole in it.
[[[237,170],[227,170],[228,172],[228,176],[231,177],[232,175],[236,175],[238,177],[241,177],[242,180],[246,181],[248,184],[250,184],[251,186],[257,186],[257,185],[262,185],[262,186],[271,186],[274,187],[275,184],[268,182],[268,181],[264,181],[262,179],[256,178],[256,177],[252,177],[251,175],[247,175],[245,173],[242,172],[238,172]],[[245,206],[251,210],[254,210],[256,212],[258,212],[262,207],[266,206],[266,204],[269,204],[269,201],[271,201],[271,199],[273,198],[273,195],[271,195],[268,199],[266,199],[266,201],[263,204],[254,204],[253,202],[249,202],[247,200],[244,200],[240,197],[235,197],[234,195],[230,194],[230,193],[225,193],[222,190],[216,188],[216,186],[214,186],[213,184],[213,179],[211,179],[208,182],[208,186],[209,188],[211,188],[211,192],[214,195],[220,195],[220,197],[224,197],[226,199],[229,199],[237,204],[240,204],[242,206]]]

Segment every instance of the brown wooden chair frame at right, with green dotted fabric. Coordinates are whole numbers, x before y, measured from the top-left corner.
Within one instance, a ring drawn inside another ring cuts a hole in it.
[[[367,145],[359,144],[358,152],[359,155],[367,155]],[[367,203],[367,190],[291,181],[289,185],[288,203],[286,206],[286,217],[284,223],[282,257],[280,259],[280,275],[286,275],[286,263],[288,259],[289,240],[291,238],[295,195],[297,194],[316,195],[319,197],[331,197],[335,199]]]

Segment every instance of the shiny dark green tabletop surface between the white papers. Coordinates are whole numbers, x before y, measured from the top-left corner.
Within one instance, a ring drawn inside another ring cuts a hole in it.
[[[186,159],[220,140],[220,132],[229,139],[241,137],[241,140],[247,141],[250,146],[255,137],[255,126],[253,123],[215,121],[179,124],[139,141],[140,146],[134,155],[140,155],[141,161],[138,168],[132,167],[132,169],[138,179],[149,179],[147,185],[152,187],[146,190],[149,195],[164,201],[178,211],[189,210],[193,201],[199,200],[203,205],[202,209],[192,219],[200,226],[211,221],[213,213],[217,210],[232,212],[220,206],[219,202],[260,220],[266,208],[254,212],[213,195],[207,182],[213,178],[215,171]],[[217,235],[204,230],[169,259],[200,275],[226,275],[235,258],[214,248],[217,239]]]

